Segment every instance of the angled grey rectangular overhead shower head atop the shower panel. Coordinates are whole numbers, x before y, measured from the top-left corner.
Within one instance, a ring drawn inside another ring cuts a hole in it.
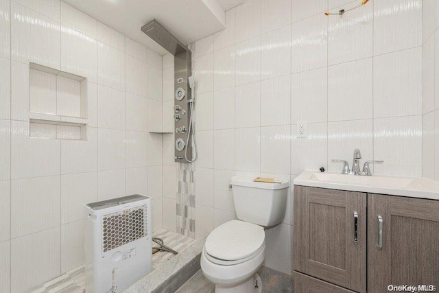
[[[163,48],[167,49],[167,51],[174,56],[187,51],[187,47],[155,19],[143,25],[141,31],[155,40],[158,45],[161,45]]]

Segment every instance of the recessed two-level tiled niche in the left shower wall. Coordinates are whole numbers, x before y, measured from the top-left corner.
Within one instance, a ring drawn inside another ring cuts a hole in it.
[[[29,63],[29,136],[86,140],[86,78]]]

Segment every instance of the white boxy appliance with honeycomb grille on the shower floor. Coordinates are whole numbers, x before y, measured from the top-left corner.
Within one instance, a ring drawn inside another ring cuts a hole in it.
[[[86,204],[86,292],[122,292],[151,272],[151,199]]]

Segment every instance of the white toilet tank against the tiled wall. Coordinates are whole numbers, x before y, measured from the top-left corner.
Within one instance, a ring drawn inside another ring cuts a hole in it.
[[[238,220],[265,227],[281,224],[287,207],[288,181],[261,183],[234,176],[231,184]]]

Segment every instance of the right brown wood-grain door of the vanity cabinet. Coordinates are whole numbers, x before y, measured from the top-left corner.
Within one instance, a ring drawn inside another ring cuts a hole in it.
[[[368,194],[368,290],[388,285],[439,290],[439,201]]]

